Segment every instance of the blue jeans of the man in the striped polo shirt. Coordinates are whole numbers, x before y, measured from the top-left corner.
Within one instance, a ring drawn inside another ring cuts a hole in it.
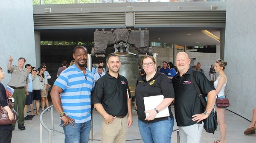
[[[61,121],[61,124],[64,122]],[[65,143],[88,143],[91,122],[74,123],[74,127],[69,123],[67,126],[62,126],[65,134]]]

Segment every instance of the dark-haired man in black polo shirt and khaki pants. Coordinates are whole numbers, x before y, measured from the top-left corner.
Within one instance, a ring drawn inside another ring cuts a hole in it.
[[[127,79],[119,75],[120,65],[118,56],[109,56],[109,72],[95,84],[93,104],[102,115],[102,143],[125,143],[132,123],[131,93]]]

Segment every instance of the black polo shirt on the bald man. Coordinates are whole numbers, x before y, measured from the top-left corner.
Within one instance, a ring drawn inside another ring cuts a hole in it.
[[[177,73],[172,79],[175,92],[175,118],[177,126],[190,126],[195,124],[196,121],[192,121],[192,115],[204,112],[204,106],[198,97],[195,85],[192,83],[192,70],[194,69],[190,67],[182,77]],[[194,70],[194,76],[204,95],[215,90],[213,85],[204,76],[204,73]]]

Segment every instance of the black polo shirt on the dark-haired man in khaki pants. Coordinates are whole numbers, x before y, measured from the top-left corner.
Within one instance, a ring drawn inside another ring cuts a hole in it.
[[[131,98],[128,81],[124,76],[117,79],[106,73],[95,83],[93,104],[100,103],[109,115],[124,116],[128,113],[127,92]]]

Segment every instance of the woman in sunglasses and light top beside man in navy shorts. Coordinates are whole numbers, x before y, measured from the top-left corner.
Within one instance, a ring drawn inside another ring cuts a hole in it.
[[[35,108],[36,108],[36,114],[40,115],[39,112],[39,104],[41,100],[41,88],[43,81],[43,76],[41,75],[40,71],[36,70],[35,67],[31,68],[32,73],[32,84],[33,84],[33,101],[35,100]]]

